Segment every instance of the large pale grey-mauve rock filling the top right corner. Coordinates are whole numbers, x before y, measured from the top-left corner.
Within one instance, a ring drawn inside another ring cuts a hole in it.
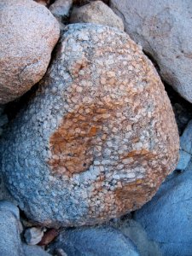
[[[153,56],[162,78],[192,102],[192,2],[111,0],[111,7],[131,38]]]

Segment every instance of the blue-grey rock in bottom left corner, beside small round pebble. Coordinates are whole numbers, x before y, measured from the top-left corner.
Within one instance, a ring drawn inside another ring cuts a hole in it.
[[[3,256],[24,256],[18,219],[18,208],[9,202],[0,202],[0,253]]]

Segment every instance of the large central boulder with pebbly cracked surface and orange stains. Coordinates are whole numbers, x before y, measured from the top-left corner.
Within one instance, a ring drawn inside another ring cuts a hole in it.
[[[7,187],[42,224],[101,223],[150,200],[178,157],[151,61],[109,26],[66,27],[37,95],[4,136]]]

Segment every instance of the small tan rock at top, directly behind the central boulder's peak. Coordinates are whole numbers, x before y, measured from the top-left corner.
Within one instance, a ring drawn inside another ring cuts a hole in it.
[[[102,1],[91,2],[80,8],[74,7],[70,23],[96,23],[124,31],[123,21]]]

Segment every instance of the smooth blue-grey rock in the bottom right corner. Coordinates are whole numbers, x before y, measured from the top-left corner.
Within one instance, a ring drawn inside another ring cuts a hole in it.
[[[136,220],[163,255],[186,256],[192,252],[192,163],[185,172],[173,172],[152,201],[137,211]]]

